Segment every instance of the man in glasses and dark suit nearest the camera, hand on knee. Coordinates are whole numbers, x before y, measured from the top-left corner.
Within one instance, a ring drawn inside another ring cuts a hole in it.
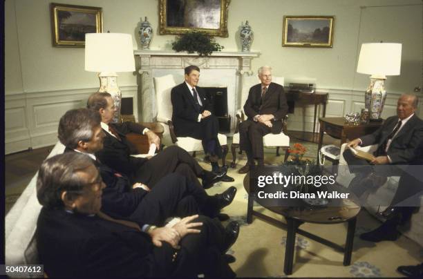
[[[100,218],[104,183],[86,155],[64,153],[39,169],[39,260],[49,277],[234,277],[223,254],[236,239],[202,215],[139,231]]]

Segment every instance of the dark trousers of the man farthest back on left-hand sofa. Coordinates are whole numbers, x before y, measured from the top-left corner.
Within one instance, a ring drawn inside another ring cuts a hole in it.
[[[187,151],[178,146],[169,146],[140,166],[133,182],[142,182],[152,189],[162,177],[169,173],[180,173],[199,187],[197,177],[204,174],[204,169]]]

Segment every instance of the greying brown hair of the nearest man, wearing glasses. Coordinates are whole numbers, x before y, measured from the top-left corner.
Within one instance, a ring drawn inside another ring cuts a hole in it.
[[[37,199],[42,206],[50,209],[62,209],[62,193],[66,191],[69,198],[82,194],[87,182],[77,173],[94,166],[87,155],[66,152],[55,155],[41,164],[37,177]]]

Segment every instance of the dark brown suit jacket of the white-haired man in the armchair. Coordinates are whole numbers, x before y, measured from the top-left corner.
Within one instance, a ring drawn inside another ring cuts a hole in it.
[[[272,133],[281,133],[281,120],[288,114],[288,104],[283,91],[283,86],[270,83],[264,98],[261,98],[261,84],[250,88],[244,111],[248,119],[253,120],[256,115],[272,114],[276,121],[273,123]]]

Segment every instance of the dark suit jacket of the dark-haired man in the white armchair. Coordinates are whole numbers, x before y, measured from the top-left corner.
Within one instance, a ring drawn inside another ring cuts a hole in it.
[[[178,137],[190,137],[196,133],[200,127],[198,115],[204,110],[212,111],[212,104],[205,94],[205,90],[196,86],[198,96],[200,96],[203,107],[197,109],[194,97],[185,81],[171,90],[171,102],[173,106],[172,122],[175,126],[175,133]]]

